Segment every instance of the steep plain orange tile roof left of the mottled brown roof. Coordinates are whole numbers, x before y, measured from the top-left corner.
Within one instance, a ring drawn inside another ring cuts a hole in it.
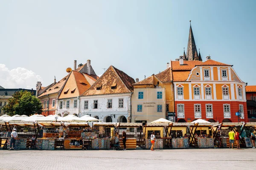
[[[90,88],[90,83],[78,71],[72,71],[64,85],[59,99],[78,97]]]

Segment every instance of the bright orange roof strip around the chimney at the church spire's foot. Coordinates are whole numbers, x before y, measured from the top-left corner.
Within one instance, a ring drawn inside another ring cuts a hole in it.
[[[200,65],[201,61],[184,61],[183,65],[180,65],[180,61],[171,61],[172,70],[192,70],[196,65]]]

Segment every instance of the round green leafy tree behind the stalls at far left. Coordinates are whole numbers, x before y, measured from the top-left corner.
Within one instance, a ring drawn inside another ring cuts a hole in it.
[[[8,104],[3,107],[6,114],[13,116],[31,115],[34,113],[42,113],[42,104],[38,98],[32,95],[29,91],[17,91],[9,99]]]

